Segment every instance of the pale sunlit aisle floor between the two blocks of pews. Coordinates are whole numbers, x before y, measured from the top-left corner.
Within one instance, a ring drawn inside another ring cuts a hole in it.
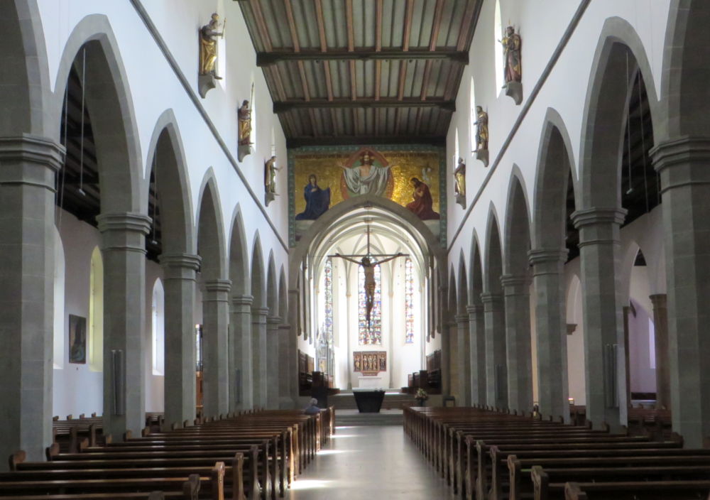
[[[453,498],[399,425],[338,427],[286,494],[290,500]]]

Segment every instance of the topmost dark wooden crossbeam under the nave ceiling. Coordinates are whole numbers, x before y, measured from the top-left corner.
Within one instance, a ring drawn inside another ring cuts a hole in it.
[[[445,59],[461,64],[469,63],[469,53],[465,50],[407,50],[400,48],[372,50],[371,48],[355,48],[353,50],[300,50],[287,52],[278,50],[274,52],[260,52],[256,54],[256,65],[259,67],[275,65],[281,61],[323,61],[323,60],[435,60]]]

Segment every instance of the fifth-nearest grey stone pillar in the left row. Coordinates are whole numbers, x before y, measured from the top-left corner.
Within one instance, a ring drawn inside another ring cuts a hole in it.
[[[229,321],[229,409],[254,406],[251,353],[251,295],[232,295]]]

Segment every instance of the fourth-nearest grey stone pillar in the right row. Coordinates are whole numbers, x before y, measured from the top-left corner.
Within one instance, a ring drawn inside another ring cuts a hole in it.
[[[532,411],[532,347],[530,345],[530,280],[501,276],[506,315],[508,408]],[[556,415],[555,415],[556,416]]]

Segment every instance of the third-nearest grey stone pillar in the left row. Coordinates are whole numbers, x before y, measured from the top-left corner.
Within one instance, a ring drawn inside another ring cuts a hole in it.
[[[165,283],[165,424],[195,420],[195,277],[200,256],[160,256]],[[204,338],[204,337],[203,337]]]

